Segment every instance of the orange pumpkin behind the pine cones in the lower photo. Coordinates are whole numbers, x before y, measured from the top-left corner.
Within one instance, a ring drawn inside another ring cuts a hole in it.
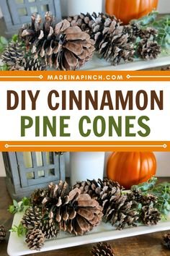
[[[125,189],[146,182],[156,174],[156,158],[151,152],[116,152],[107,161],[107,178]]]

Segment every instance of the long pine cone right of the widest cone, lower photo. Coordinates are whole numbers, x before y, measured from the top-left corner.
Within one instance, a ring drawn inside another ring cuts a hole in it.
[[[122,195],[122,187],[117,182],[108,179],[87,180],[87,182],[77,182],[74,187],[95,198],[103,208],[104,219],[117,224],[117,229],[124,229],[128,226],[137,226],[138,213],[135,210],[138,205],[135,197]]]

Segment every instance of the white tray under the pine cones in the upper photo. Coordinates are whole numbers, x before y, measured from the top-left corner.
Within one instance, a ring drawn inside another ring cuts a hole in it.
[[[143,61],[141,59],[135,59],[133,62],[122,62],[121,64],[115,66],[111,66],[109,62],[104,59],[99,59],[99,57],[94,54],[93,59],[87,62],[81,70],[141,70],[141,69],[149,69],[153,67],[161,67],[170,64],[170,52],[167,54],[161,54],[158,59],[154,59],[151,61]]]

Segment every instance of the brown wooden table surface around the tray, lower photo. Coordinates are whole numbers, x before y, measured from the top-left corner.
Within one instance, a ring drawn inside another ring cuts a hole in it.
[[[170,178],[159,179],[160,182],[168,181]],[[6,229],[10,229],[12,226],[13,216],[7,211],[9,204],[12,203],[11,198],[8,195],[5,187],[4,178],[0,178],[0,223],[6,226]],[[169,227],[170,230],[170,227]],[[146,234],[141,236],[133,236],[125,239],[117,239],[109,242],[112,247],[115,248],[116,256],[166,256],[170,255],[170,250],[162,246],[162,236],[166,232],[158,232],[154,234]],[[0,244],[0,255],[6,256],[7,244],[9,239],[9,232],[6,236],[6,240]],[[79,247],[71,247],[67,249],[58,249],[53,252],[42,252],[39,254],[31,254],[31,256],[89,256],[91,247],[94,244],[87,244]]]

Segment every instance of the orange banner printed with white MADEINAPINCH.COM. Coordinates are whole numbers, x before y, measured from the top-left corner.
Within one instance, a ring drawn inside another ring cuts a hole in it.
[[[169,71],[1,71],[0,81],[170,81]]]

